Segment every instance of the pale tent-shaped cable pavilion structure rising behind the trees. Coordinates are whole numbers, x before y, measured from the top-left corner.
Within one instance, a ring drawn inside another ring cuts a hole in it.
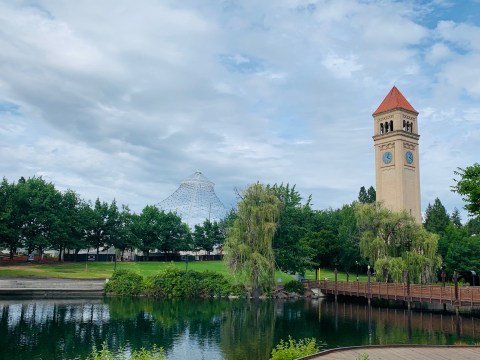
[[[206,219],[219,221],[225,217],[227,210],[215,194],[214,186],[197,170],[183,180],[172,195],[158,203],[158,207],[177,213],[191,228],[203,224]]]

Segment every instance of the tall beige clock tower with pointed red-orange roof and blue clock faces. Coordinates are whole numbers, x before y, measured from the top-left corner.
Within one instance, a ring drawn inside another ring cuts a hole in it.
[[[377,201],[421,222],[418,112],[394,86],[373,113]]]

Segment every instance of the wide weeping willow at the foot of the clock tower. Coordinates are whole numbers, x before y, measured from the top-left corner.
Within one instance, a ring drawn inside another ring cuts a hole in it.
[[[415,283],[430,282],[441,264],[438,236],[426,231],[406,211],[392,212],[379,203],[358,204],[360,251],[379,281],[400,282],[409,271]]]

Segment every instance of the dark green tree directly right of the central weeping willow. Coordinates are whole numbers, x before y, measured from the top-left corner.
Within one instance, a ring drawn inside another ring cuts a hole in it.
[[[301,241],[309,230],[312,217],[310,198],[302,205],[295,185],[273,185],[281,203],[279,225],[273,238],[276,265],[285,272],[304,274],[312,268],[310,249]]]

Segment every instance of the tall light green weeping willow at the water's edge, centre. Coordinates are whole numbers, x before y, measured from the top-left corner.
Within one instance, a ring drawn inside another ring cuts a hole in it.
[[[249,186],[240,195],[237,218],[225,241],[225,261],[253,294],[269,292],[275,283],[272,241],[280,201],[268,186]]]

